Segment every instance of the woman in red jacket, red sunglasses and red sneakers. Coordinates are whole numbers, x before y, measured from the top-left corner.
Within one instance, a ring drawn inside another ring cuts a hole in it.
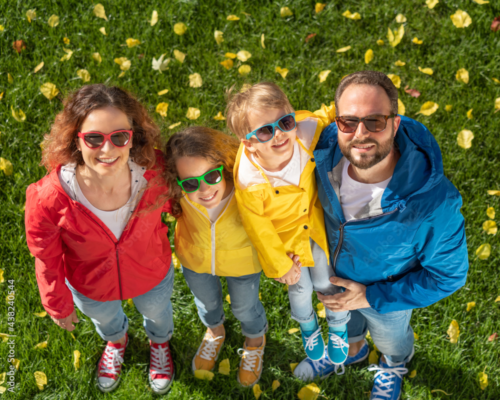
[[[26,190],[26,241],[41,302],[61,328],[75,329],[73,302],[107,341],[97,387],[120,380],[128,344],[121,300],[132,298],[149,337],[148,379],[165,393],[173,379],[170,243],[161,212],[166,190],[156,161],[159,128],[127,91],[103,84],[69,94],[43,142],[48,174]]]

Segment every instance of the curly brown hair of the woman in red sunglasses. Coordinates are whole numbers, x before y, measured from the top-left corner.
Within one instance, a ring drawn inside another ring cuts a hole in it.
[[[160,130],[132,93],[116,86],[95,83],[70,92],[62,103],[63,110],[55,116],[50,132],[44,135],[42,142],[41,164],[48,172],[57,165],[83,165],[75,139],[87,115],[104,107],[118,108],[127,116],[133,131],[132,159],[146,169],[155,165],[154,147],[161,148]]]

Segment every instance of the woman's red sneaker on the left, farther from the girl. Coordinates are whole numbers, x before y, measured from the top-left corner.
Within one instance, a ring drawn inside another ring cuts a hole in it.
[[[125,333],[125,344],[107,342],[97,364],[95,380],[100,391],[114,390],[120,381],[121,363],[125,347],[128,345],[128,334]]]

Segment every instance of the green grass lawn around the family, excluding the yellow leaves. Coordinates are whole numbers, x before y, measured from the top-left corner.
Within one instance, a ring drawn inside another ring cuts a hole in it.
[[[500,197],[487,194],[488,189],[500,189],[500,113],[494,114],[494,99],[500,96],[500,32],[492,32],[489,25],[500,14],[500,4],[490,0],[479,5],[472,1],[441,0],[433,9],[424,7],[424,1],[388,0],[385,2],[335,1],[329,2],[319,14],[314,12],[313,1],[148,1],[129,0],[126,6],[112,1],[102,2],[109,21],[97,18],[90,1],[39,0],[3,1],[0,4],[0,156],[13,164],[13,174],[0,172],[0,248],[1,268],[5,279],[15,280],[15,357],[21,360],[15,374],[15,393],[5,393],[15,399],[149,399],[157,398],[146,379],[148,363],[147,339],[142,328],[141,316],[125,305],[130,318],[130,346],[125,353],[122,381],[109,394],[101,394],[93,385],[94,365],[103,341],[95,333],[89,320],[79,314],[80,323],[71,335],[57,327],[48,316],[38,318],[32,312],[41,311],[39,294],[34,277],[34,262],[25,244],[23,204],[26,186],[40,179],[45,170],[38,165],[42,135],[50,128],[50,122],[61,109],[59,98],[47,100],[39,86],[54,83],[60,95],[83,84],[76,71],[85,68],[91,75],[91,83],[118,84],[136,93],[147,106],[162,128],[165,138],[172,132],[168,126],[180,121],[180,129],[188,124],[206,124],[225,130],[224,121],[212,117],[225,107],[224,88],[236,83],[258,80],[276,81],[288,94],[296,109],[316,109],[321,103],[333,100],[334,90],[341,77],[347,73],[365,69],[394,73],[401,78],[400,99],[406,107],[406,115],[414,117],[429,127],[435,135],[443,154],[444,171],[463,197],[462,213],[469,249],[470,269],[464,288],[453,295],[423,309],[416,309],[412,326],[419,335],[415,342],[415,356],[408,364],[415,369],[414,378],[405,378],[402,399],[498,399],[500,398],[500,347],[498,340],[488,342],[487,337],[500,330],[500,302],[494,302],[500,294],[500,244],[498,234],[486,235],[482,222],[487,218],[487,206],[496,210],[495,220],[500,222]],[[293,16],[281,18],[279,9],[288,6]],[[36,8],[36,19],[28,23],[25,13]],[[450,15],[458,8],[468,12],[472,24],[455,28]],[[159,21],[150,26],[151,12],[157,10]],[[359,12],[360,20],[350,20],[341,15],[349,9]],[[246,15],[246,12],[250,15]],[[394,17],[403,13],[407,17],[405,34],[396,47],[387,44],[387,27],[396,29]],[[47,24],[51,14],[60,18],[52,28]],[[228,21],[226,16],[236,14],[239,21]],[[187,31],[178,36],[173,24],[184,22]],[[106,28],[107,36],[99,32]],[[219,46],[213,38],[215,29],[224,32],[224,42]],[[265,35],[265,49],[260,45],[260,35]],[[305,38],[316,33],[310,41]],[[423,40],[413,44],[416,36]],[[69,44],[63,43],[67,37]],[[125,39],[133,37],[141,44],[128,48]],[[17,54],[12,49],[14,40],[22,39],[26,49]],[[377,39],[384,40],[378,46]],[[351,45],[344,53],[336,53],[339,47]],[[60,61],[63,48],[73,55]],[[374,58],[364,63],[364,52],[371,48]],[[186,53],[184,63],[173,58],[173,49]],[[251,66],[247,76],[240,76],[235,60],[234,67],[226,70],[219,62],[227,51],[236,53],[247,50],[252,57],[245,62]],[[99,52],[102,62],[95,62],[92,52]],[[172,60],[169,69],[162,74],[151,69],[152,57],[162,53]],[[131,60],[131,67],[118,78],[120,69],[113,59],[124,56]],[[394,61],[406,62],[395,66]],[[44,66],[36,73],[33,68],[43,60]],[[274,68],[286,67],[289,73],[282,79]],[[431,67],[434,74],[419,72],[418,66]],[[468,84],[455,80],[456,70],[469,71]],[[318,73],[330,69],[326,81],[320,83]],[[188,75],[198,72],[203,84],[191,88]],[[7,73],[13,83],[7,82]],[[413,98],[404,87],[416,88],[421,96]],[[157,91],[168,88],[169,92],[158,96]],[[59,96],[60,96],[59,95]],[[439,104],[430,116],[415,115],[427,100]],[[167,117],[154,112],[160,101],[169,103]],[[452,104],[446,112],[444,106]],[[26,114],[24,122],[17,122],[10,107],[19,107]],[[201,116],[190,121],[185,117],[189,106],[197,107]],[[466,111],[473,108],[472,119]],[[472,146],[462,149],[456,144],[457,132],[470,129],[474,133]],[[482,243],[491,245],[491,255],[485,260],[475,257],[475,249]],[[165,398],[175,399],[232,399],[253,398],[251,390],[240,388],[235,380],[238,357],[237,348],[242,345],[238,322],[226,304],[226,344],[221,359],[229,358],[231,374],[215,373],[212,381],[193,377],[190,360],[201,339],[204,327],[199,321],[192,296],[183,277],[175,271],[175,287],[172,296],[175,331],[171,340],[175,381]],[[7,282],[0,284],[1,298],[8,291]],[[269,320],[268,344],[260,387],[261,399],[296,398],[304,385],[293,377],[289,363],[298,362],[304,356],[300,337],[287,330],[296,323],[289,317],[289,306],[282,285],[272,279],[262,278],[261,293]],[[317,300],[315,300],[316,302]],[[476,306],[465,311],[465,304],[475,301]],[[7,308],[0,306],[0,332],[7,332]],[[452,319],[460,327],[457,344],[446,338],[446,329]],[[323,321],[324,324],[324,321]],[[43,350],[33,346],[48,339]],[[81,367],[74,370],[72,351],[81,352]],[[7,371],[8,347],[0,342],[0,372]],[[42,391],[36,388],[33,372],[43,371],[48,384]],[[477,373],[488,374],[488,386],[481,390]],[[281,386],[271,392],[271,382],[278,379]],[[334,399],[367,398],[371,388],[372,372],[366,363],[349,367],[344,375],[333,376],[316,382],[321,395]],[[441,389],[442,392],[431,392]]]

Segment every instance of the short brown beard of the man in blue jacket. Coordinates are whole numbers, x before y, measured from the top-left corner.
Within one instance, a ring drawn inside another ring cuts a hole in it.
[[[389,155],[390,150],[394,146],[394,127],[391,126],[391,135],[385,141],[377,141],[371,137],[368,137],[364,140],[353,139],[347,143],[342,143],[338,140],[338,147],[340,151],[344,155],[349,162],[359,169],[368,169],[373,165],[378,164],[381,160],[383,160],[387,155]],[[341,134],[341,132],[339,132]],[[375,144],[376,149],[374,154],[366,154],[366,153],[358,153],[352,154],[352,146],[353,145],[363,145],[363,144]]]

